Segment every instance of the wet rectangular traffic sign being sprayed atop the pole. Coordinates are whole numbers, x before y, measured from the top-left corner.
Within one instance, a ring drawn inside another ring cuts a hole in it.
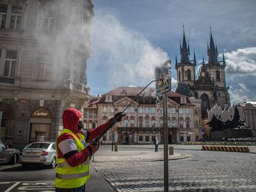
[[[156,96],[171,91],[171,60],[155,68]]]

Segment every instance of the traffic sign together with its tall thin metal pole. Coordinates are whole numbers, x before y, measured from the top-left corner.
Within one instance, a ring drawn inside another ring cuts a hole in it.
[[[156,67],[155,77],[158,80],[156,81],[156,100],[160,102],[163,99],[164,192],[168,192],[168,91],[171,90],[171,60],[167,60],[159,67]]]

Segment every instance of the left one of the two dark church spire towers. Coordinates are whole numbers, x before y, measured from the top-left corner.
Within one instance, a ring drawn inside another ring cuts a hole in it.
[[[181,62],[175,62],[175,68],[177,70],[177,81],[178,83],[186,83],[187,85],[194,85],[195,81],[195,51],[194,51],[194,60],[189,61],[190,49],[189,43],[187,45],[184,25],[183,25],[183,41],[182,46],[180,44],[180,54],[181,54]]]

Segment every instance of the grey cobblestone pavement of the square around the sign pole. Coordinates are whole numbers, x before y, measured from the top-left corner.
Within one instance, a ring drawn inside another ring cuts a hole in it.
[[[169,191],[256,191],[255,154],[184,151],[169,161]],[[117,159],[118,160],[118,159]],[[163,161],[92,162],[117,191],[163,191]]]

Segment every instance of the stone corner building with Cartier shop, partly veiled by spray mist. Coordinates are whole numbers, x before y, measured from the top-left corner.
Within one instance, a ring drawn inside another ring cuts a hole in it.
[[[92,16],[91,0],[0,1],[0,140],[54,141],[64,109],[83,111]]]

